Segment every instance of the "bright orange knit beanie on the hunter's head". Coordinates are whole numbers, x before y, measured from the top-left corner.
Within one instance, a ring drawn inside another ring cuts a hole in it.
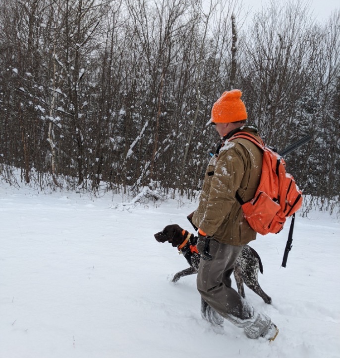
[[[222,96],[213,105],[211,122],[230,123],[247,119],[247,112],[241,96],[242,92],[239,89],[223,92]]]

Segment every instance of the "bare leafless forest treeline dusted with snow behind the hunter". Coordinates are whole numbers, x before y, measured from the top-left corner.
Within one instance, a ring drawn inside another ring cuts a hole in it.
[[[340,11],[301,1],[0,0],[0,176],[15,184],[196,195],[240,88],[305,194],[339,203]]]

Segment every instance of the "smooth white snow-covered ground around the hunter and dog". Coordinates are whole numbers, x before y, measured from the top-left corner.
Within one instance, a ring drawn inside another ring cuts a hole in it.
[[[1,358],[340,357],[338,219],[298,216],[287,268],[288,225],[251,243],[273,305],[247,287],[246,296],[280,329],[269,344],[203,321],[196,275],[170,282],[187,264],[153,234],[170,223],[190,230],[197,203],[120,202],[0,182]]]

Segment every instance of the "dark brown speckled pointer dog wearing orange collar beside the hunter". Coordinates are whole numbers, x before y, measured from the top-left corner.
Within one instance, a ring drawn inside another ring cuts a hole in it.
[[[177,272],[172,282],[176,283],[181,277],[197,274],[200,263],[200,254],[195,246],[197,236],[190,234],[183,230],[179,225],[167,225],[162,231],[157,232],[155,239],[158,242],[170,242],[173,247],[177,247],[178,251],[182,253],[190,265],[189,268]],[[234,277],[238,289],[238,293],[244,298],[243,283],[262,299],[268,303],[272,303],[272,298],[268,296],[260,287],[258,282],[259,271],[263,274],[263,267],[258,253],[248,245],[245,245],[241,255],[235,262]]]

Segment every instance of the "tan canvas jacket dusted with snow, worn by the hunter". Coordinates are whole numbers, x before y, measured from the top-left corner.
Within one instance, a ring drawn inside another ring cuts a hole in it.
[[[244,126],[242,131],[257,135],[254,127]],[[262,151],[255,144],[241,138],[226,141],[208,164],[193,223],[222,243],[244,245],[255,240],[256,232],[245,220],[235,193],[244,202],[252,199],[261,169]]]

